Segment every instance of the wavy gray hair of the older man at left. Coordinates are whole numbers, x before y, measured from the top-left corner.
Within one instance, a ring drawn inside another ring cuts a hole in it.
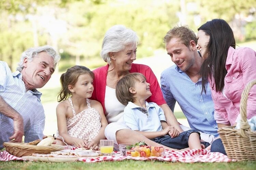
[[[57,63],[60,60],[60,55],[59,53],[51,46],[41,46],[41,47],[32,47],[27,49],[22,53],[22,56],[20,57],[20,61],[18,63],[17,71],[21,72],[22,69],[24,68],[23,66],[23,61],[24,58],[28,58],[28,61],[31,62],[35,56],[37,56],[38,53],[40,52],[47,52],[48,55],[52,56],[53,61],[54,61],[54,68],[56,68]]]

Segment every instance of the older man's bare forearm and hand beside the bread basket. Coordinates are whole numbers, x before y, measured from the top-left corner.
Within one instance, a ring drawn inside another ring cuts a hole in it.
[[[9,138],[11,142],[21,142],[24,135],[24,126],[22,116],[15,111],[4,99],[0,96],[0,113],[13,119],[13,135]],[[14,139],[14,140],[13,140]]]

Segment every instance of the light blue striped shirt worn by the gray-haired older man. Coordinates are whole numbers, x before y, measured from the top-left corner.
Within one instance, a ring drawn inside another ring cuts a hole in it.
[[[19,71],[11,72],[7,63],[0,61],[0,96],[23,117],[25,142],[42,139],[45,115],[41,92],[26,91]],[[0,149],[13,135],[13,120],[0,113]]]

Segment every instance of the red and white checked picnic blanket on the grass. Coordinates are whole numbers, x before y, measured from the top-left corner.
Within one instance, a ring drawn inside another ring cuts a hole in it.
[[[122,156],[119,152],[113,154],[113,156],[98,156],[98,157],[82,157],[78,159],[85,163],[95,163],[101,161],[121,161],[125,159],[134,160],[159,160],[167,162],[183,162],[183,163],[195,163],[195,162],[235,162],[235,159],[230,159],[226,155],[219,152],[210,152],[205,149],[193,149],[182,152],[166,150],[163,157],[151,156],[145,157],[131,157]],[[20,157],[11,155],[7,151],[0,152],[0,161],[10,161],[10,160],[23,160]]]

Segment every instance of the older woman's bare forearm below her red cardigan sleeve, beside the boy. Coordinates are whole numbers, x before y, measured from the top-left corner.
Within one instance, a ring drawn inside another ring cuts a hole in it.
[[[184,132],[181,129],[180,124],[178,123],[176,117],[172,113],[170,107],[165,103],[160,105],[160,107],[163,109],[163,113],[165,113],[166,122],[169,126],[173,126],[175,129],[177,129],[180,133]]]

